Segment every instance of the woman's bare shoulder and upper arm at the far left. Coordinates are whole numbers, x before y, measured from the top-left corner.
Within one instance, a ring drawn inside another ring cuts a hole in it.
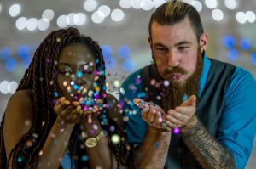
[[[32,120],[32,90],[17,91],[10,97],[4,113],[3,137],[7,155],[32,127]]]

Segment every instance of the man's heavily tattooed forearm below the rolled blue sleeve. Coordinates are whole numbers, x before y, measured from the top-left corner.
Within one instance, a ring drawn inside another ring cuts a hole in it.
[[[184,143],[203,168],[236,168],[230,149],[226,149],[207,131],[195,116],[191,125],[183,127]]]

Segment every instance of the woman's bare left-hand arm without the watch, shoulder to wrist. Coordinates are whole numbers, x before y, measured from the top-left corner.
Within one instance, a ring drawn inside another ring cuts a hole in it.
[[[9,168],[12,168],[12,158],[9,157],[12,149],[19,144],[20,138],[32,127],[33,110],[29,91],[19,91],[10,99],[5,111],[4,143]],[[67,103],[67,102],[66,102]],[[63,103],[64,104],[64,103]],[[42,151],[38,157],[39,168],[58,168],[61,157],[67,147],[68,140],[73,130],[74,123],[61,123],[57,118],[49,132]]]

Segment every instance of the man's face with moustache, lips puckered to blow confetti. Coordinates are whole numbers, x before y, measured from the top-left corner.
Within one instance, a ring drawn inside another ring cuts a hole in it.
[[[198,48],[206,48],[207,35],[201,36],[199,47],[188,18],[175,25],[159,25],[154,21],[151,32],[148,41],[160,76],[183,86],[195,72]]]

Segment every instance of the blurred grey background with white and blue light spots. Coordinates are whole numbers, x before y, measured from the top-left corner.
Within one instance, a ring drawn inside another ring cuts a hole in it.
[[[150,14],[166,0],[0,1],[0,117],[50,31],[73,26],[98,41],[107,67],[108,92],[131,72],[151,63]],[[256,77],[256,1],[186,0],[209,34],[207,55],[249,70]],[[256,94],[256,93],[252,93]],[[254,131],[255,132],[255,131]],[[254,141],[256,143],[256,140]],[[253,161],[254,159],[254,161]],[[256,145],[247,169],[256,168]]]

